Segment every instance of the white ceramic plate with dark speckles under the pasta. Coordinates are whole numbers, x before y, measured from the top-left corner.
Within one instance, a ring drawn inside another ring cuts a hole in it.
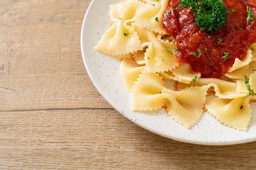
[[[92,83],[108,103],[138,126],[177,141],[204,145],[229,145],[256,141],[256,105],[252,106],[254,113],[248,132],[230,129],[209,113],[204,113],[198,124],[189,130],[168,117],[164,110],[141,113],[129,109],[129,94],[119,73],[120,61],[94,50],[94,46],[112,24],[108,18],[110,4],[119,1],[92,0],[85,14],[81,32],[81,50],[85,68]]]

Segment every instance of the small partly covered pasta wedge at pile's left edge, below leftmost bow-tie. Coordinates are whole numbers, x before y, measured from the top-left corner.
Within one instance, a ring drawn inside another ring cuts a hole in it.
[[[139,78],[139,74],[141,74],[143,70],[145,70],[145,66],[138,65],[132,59],[124,58],[121,61],[120,72],[124,80],[124,84],[126,85],[129,92],[131,92],[132,86],[137,81],[137,78]]]

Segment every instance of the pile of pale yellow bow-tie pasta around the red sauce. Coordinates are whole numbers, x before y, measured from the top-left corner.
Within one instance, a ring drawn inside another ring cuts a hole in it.
[[[168,0],[123,0],[110,6],[112,26],[96,46],[111,56],[121,56],[120,70],[130,92],[133,111],[166,108],[168,116],[191,128],[204,114],[204,108],[222,124],[247,131],[252,118],[245,76],[256,92],[256,52],[248,49],[246,59],[236,59],[221,79],[201,78],[189,64],[175,60],[176,40],[162,27]],[[164,81],[177,82],[177,89]],[[207,99],[207,92],[215,97]]]

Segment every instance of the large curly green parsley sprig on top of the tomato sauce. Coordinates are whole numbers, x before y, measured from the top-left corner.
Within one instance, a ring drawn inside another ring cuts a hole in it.
[[[180,0],[180,6],[192,7],[195,24],[201,30],[215,33],[226,24],[229,11],[222,0]]]

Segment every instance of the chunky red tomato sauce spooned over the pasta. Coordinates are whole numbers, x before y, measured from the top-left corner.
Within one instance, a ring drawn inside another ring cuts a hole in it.
[[[247,6],[251,7],[252,14],[256,17],[256,0],[223,2],[229,10],[227,23],[214,34],[200,30],[194,22],[193,11],[179,7],[179,0],[170,0],[164,13],[164,29],[177,39],[179,50],[176,60],[179,63],[189,63],[192,70],[200,72],[204,78],[220,78],[232,67],[236,58],[243,61],[249,46],[256,42],[256,18],[252,22],[246,21]],[[232,13],[232,10],[235,12]],[[219,44],[218,39],[222,40]],[[190,54],[198,54],[198,50],[202,53],[199,58]],[[229,52],[226,61],[222,59],[224,52]]]

